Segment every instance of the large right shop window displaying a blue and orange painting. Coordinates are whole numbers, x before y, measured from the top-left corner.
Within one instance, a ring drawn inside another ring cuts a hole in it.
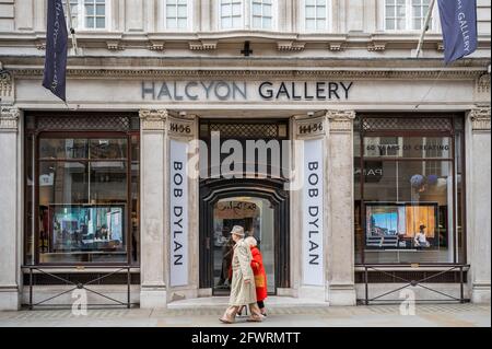
[[[462,263],[459,117],[371,117],[354,141],[356,263]]]

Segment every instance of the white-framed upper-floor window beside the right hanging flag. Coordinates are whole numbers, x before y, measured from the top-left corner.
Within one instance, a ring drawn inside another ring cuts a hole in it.
[[[422,30],[431,0],[385,0],[384,19],[386,31],[420,31]],[[433,30],[432,14],[429,27]]]

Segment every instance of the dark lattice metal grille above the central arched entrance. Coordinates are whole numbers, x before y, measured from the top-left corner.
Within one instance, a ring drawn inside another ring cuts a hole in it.
[[[282,128],[282,130],[281,130]],[[220,132],[221,138],[281,138],[285,124],[209,124],[209,132]]]

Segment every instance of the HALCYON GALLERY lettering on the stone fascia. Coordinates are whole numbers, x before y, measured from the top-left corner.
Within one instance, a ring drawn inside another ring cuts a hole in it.
[[[349,100],[352,86],[353,82],[343,81],[142,81],[141,93],[142,100],[175,102],[248,101],[251,97],[265,101],[338,101]]]

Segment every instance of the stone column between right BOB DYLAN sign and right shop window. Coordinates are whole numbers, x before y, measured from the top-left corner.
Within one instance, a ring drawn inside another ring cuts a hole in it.
[[[353,228],[353,110],[329,110],[327,301],[355,305]]]

